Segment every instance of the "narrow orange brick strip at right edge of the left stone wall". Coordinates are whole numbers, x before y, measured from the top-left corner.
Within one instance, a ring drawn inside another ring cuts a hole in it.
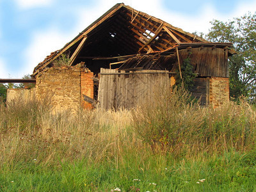
[[[86,95],[93,99],[93,72],[85,70],[81,72],[81,107],[83,109],[92,109],[92,104],[83,99]]]

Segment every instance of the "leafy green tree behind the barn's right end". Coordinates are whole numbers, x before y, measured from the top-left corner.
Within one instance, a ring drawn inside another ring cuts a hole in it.
[[[213,20],[207,35],[212,42],[232,42],[236,55],[228,59],[230,96],[256,98],[256,12],[222,22]]]

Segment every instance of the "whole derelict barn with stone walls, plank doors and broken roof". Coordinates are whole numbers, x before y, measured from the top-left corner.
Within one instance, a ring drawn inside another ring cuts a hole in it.
[[[191,94],[216,107],[229,98],[230,47],[118,3],[35,67],[35,88],[8,90],[8,100],[22,93],[51,97],[56,109],[92,108],[95,100],[104,109],[135,108],[182,78],[189,58],[196,74]]]

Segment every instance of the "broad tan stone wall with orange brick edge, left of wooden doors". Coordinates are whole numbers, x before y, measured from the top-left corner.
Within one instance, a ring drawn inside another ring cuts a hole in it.
[[[93,97],[92,77],[90,70],[84,71],[82,68],[46,68],[36,77],[36,97],[39,100],[48,99],[53,111],[74,112],[81,106],[92,108],[82,99],[83,94]]]

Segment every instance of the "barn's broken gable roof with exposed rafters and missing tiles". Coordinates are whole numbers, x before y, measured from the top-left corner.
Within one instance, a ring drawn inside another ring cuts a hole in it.
[[[51,67],[52,61],[59,58],[61,54],[69,54],[69,65],[76,65],[90,58],[104,60],[120,56],[132,57],[138,54],[161,54],[175,47],[185,49],[202,45],[232,47],[232,44],[211,43],[161,19],[118,3],[62,49],[47,56],[35,67],[33,76],[43,68]],[[228,52],[234,53],[231,50]]]

